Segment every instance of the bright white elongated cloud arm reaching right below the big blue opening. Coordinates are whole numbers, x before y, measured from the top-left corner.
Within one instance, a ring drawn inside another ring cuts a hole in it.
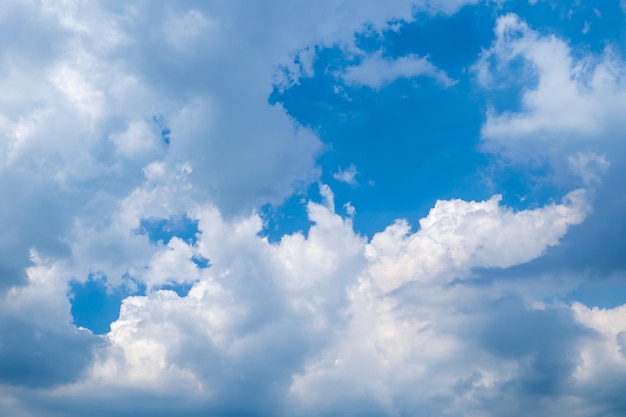
[[[556,245],[589,211],[582,190],[568,194],[563,204],[517,213],[499,201],[499,196],[438,201],[417,233],[409,234],[409,225],[398,222],[374,235],[367,249],[374,282],[389,292],[412,281],[464,278],[473,267],[527,262]]]

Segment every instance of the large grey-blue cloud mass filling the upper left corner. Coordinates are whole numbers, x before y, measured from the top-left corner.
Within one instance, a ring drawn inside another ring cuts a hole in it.
[[[25,282],[31,247],[67,255],[69,236],[82,235],[72,227],[102,223],[149,164],[166,176],[189,166],[188,199],[226,213],[281,202],[316,180],[321,143],[268,104],[277,68],[317,45],[347,47],[365,25],[464,3],[5,2],[0,190],[14,204],[0,209],[11,225],[0,285]]]

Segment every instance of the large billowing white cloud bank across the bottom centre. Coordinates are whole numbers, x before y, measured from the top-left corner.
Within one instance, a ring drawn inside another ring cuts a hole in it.
[[[145,278],[184,282],[195,274],[189,294],[154,290],[125,299],[89,375],[57,390],[53,408],[77,396],[98,401],[105,413],[123,412],[117,390],[124,388],[250,414],[358,412],[359,403],[385,414],[422,406],[447,412],[481,409],[481,395],[520,377],[523,359],[498,356],[490,332],[501,323],[485,315],[513,308],[534,323],[541,310],[494,306],[510,288],[476,288],[463,278],[474,268],[526,262],[556,244],[585,217],[582,192],[519,212],[497,197],[440,201],[417,232],[397,223],[371,242],[333,212],[332,192],[325,194],[325,205],[308,204],[307,236],[278,243],[258,235],[256,215],[226,220],[213,207],[194,211],[197,245],[173,239]],[[211,267],[193,269],[192,251]],[[251,408],[232,404],[242,396]]]

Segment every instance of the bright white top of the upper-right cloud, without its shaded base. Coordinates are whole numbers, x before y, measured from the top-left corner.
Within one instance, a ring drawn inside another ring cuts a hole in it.
[[[495,35],[474,67],[478,80],[491,88],[509,84],[511,66],[521,58],[515,76],[527,85],[519,110],[487,112],[482,134],[488,146],[527,157],[581,149],[581,140],[606,141],[623,129],[626,73],[610,46],[600,56],[576,58],[565,40],[541,35],[514,14],[498,19]]]

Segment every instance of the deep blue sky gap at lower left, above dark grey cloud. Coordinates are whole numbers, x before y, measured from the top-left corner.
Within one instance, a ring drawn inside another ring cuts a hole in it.
[[[90,275],[84,283],[70,281],[69,299],[74,324],[105,334],[117,320],[122,300],[131,295],[144,295],[146,286],[127,278],[129,285],[111,287],[106,277]]]

